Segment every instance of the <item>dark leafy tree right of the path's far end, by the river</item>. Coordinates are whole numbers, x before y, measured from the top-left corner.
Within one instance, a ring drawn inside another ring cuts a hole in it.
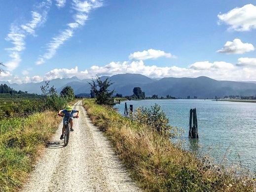
[[[96,81],[92,79],[92,82],[88,82],[91,85],[91,93],[94,93],[96,102],[100,105],[114,105],[114,99],[112,95],[114,90],[110,91],[109,87],[113,83],[110,83],[109,78],[102,81],[99,76],[97,76]]]

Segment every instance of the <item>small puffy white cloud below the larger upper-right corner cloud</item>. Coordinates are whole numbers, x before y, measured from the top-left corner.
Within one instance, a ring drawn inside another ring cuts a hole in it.
[[[243,43],[240,39],[227,41],[224,47],[218,50],[218,53],[226,54],[244,54],[246,52],[254,51],[254,45],[251,43]]]

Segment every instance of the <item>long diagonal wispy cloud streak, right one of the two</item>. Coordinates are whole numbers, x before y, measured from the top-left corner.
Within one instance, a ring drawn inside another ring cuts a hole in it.
[[[93,8],[102,6],[102,0],[73,0],[72,7],[76,10],[73,15],[74,22],[67,24],[68,28],[61,31],[57,36],[47,44],[46,53],[39,56],[36,64],[43,64],[45,60],[51,59],[57,52],[58,48],[73,36],[75,29],[84,26],[88,19],[88,14]]]

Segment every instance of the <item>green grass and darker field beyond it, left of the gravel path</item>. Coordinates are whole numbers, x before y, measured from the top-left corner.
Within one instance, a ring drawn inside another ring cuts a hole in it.
[[[26,180],[60,118],[37,99],[0,100],[0,114],[0,192],[12,192]]]

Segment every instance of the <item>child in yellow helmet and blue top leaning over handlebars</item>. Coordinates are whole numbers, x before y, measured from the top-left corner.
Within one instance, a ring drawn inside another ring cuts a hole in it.
[[[77,113],[75,118],[78,118],[78,114],[79,114],[79,111],[78,110],[73,110],[72,109],[72,106],[69,105],[67,106],[66,109],[64,110],[59,110],[59,113],[58,115],[61,116],[61,117],[64,117],[63,118],[63,128],[62,128],[62,134],[61,134],[61,137],[60,139],[63,139],[63,136],[64,136],[64,131],[65,131],[65,121],[68,121],[69,117],[73,117],[73,114],[74,113]],[[73,131],[74,129],[72,128],[73,127],[73,119],[70,118],[70,131]]]

